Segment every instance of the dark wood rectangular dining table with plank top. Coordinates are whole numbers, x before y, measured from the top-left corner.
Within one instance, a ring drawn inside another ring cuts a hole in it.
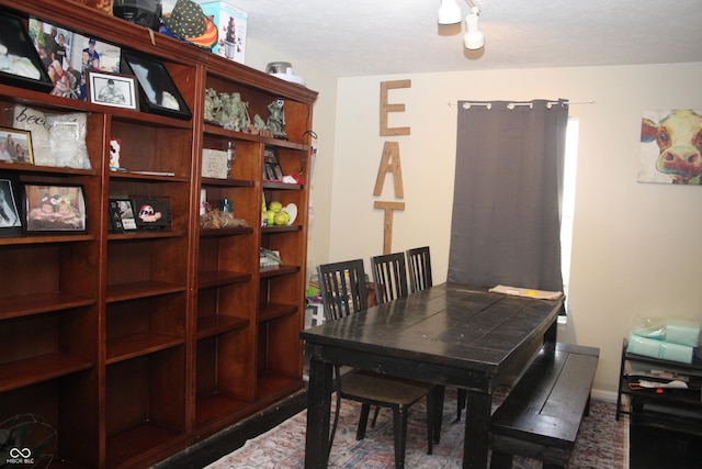
[[[562,305],[563,297],[442,283],[301,332],[309,359],[305,468],[327,467],[335,365],[465,389],[463,467],[486,468],[492,392],[556,342]]]

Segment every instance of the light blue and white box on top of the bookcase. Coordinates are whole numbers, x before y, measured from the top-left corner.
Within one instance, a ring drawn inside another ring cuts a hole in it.
[[[197,0],[205,15],[212,18],[219,33],[214,54],[244,64],[246,55],[246,27],[248,15],[228,1]]]

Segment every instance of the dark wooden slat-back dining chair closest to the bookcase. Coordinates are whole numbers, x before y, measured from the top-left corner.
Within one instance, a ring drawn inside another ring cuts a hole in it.
[[[325,321],[335,321],[367,309],[365,270],[362,259],[320,265],[317,267]],[[341,399],[361,403],[361,415],[356,429],[356,439],[365,437],[371,406],[393,410],[395,467],[405,467],[405,447],[407,445],[407,418],[411,405],[427,398],[427,454],[433,451],[433,443],[439,442],[434,428],[438,405],[443,394],[431,383],[395,378],[373,371],[353,369],[341,375],[335,367],[337,412],[335,414],[329,448],[333,443]],[[440,417],[440,415],[439,415]]]

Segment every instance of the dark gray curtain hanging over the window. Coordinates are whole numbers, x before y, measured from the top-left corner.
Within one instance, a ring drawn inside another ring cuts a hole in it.
[[[563,291],[567,101],[458,102],[449,281]]]

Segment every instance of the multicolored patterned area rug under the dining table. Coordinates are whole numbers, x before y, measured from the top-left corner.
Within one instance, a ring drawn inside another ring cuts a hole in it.
[[[496,404],[500,402],[496,394]],[[393,418],[389,410],[382,410],[375,428],[366,432],[361,442],[355,431],[361,405],[343,400],[339,425],[329,456],[330,468],[381,469],[394,468]],[[455,422],[455,390],[446,389],[441,443],[433,455],[427,455],[426,407],[423,402],[411,407],[407,428],[407,468],[461,468],[465,422]],[[305,425],[303,411],[271,431],[246,442],[234,453],[207,466],[208,469],[296,469],[305,461]],[[541,468],[541,461],[514,458],[514,468]],[[629,469],[629,421],[614,418],[614,404],[592,401],[590,414],[580,426],[570,469]]]

